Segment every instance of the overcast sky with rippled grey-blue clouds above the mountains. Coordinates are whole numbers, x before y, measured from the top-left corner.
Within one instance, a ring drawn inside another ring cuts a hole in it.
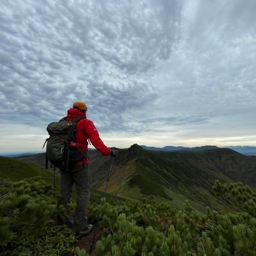
[[[0,153],[74,101],[109,147],[256,146],[255,0],[0,4]]]

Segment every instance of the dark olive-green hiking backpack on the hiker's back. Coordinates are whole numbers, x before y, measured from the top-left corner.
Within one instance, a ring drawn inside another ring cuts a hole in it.
[[[60,122],[52,122],[47,126],[50,137],[45,140],[45,143],[47,143],[46,169],[48,167],[47,163],[50,161],[54,167],[68,171],[70,165],[87,158],[84,152],[79,151],[75,142],[76,124],[83,118],[84,116],[79,116],[69,122],[62,118]]]

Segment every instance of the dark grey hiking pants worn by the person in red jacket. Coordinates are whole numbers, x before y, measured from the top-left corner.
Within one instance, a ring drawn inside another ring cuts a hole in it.
[[[61,174],[61,198],[58,205],[64,205],[67,208],[67,204],[72,195],[73,184],[76,186],[77,191],[77,206],[76,214],[74,216],[74,230],[79,232],[87,228],[87,218],[85,212],[88,207],[88,201],[90,198],[90,184],[91,174],[88,168],[88,164],[74,166],[70,170],[60,170]],[[68,220],[72,220],[72,216],[67,216]]]

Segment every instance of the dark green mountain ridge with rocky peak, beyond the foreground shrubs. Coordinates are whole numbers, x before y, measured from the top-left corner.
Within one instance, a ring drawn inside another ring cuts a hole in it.
[[[44,166],[45,153],[15,159]],[[93,188],[104,191],[110,165],[110,157],[103,157],[97,150],[90,152]],[[188,199],[198,211],[205,211],[206,205],[227,210],[232,205],[215,196],[214,181],[242,181],[256,187],[255,170],[256,157],[228,148],[205,146],[170,152],[145,150],[134,144],[120,149],[114,159],[108,193],[152,203],[168,201],[175,207]]]

